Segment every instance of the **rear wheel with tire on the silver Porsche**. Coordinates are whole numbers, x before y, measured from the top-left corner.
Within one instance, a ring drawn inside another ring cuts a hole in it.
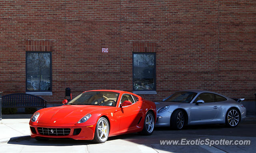
[[[239,122],[241,115],[239,113],[239,110],[236,108],[230,108],[228,109],[226,113],[226,127],[236,127]]]

